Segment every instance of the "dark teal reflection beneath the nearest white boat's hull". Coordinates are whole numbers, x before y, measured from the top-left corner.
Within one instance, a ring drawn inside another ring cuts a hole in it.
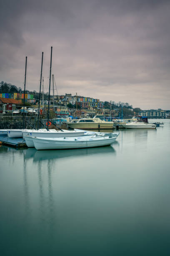
[[[116,154],[112,146],[104,146],[100,148],[77,148],[77,149],[62,149],[62,150],[43,150],[36,151],[33,161],[43,161],[50,159],[60,159],[64,157],[76,157],[92,154]]]

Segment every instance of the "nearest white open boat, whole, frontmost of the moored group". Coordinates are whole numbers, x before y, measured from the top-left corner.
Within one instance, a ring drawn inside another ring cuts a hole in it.
[[[95,136],[91,138],[35,138],[32,137],[34,146],[37,150],[44,149],[67,149],[67,148],[91,148],[111,145],[115,142],[116,137]]]

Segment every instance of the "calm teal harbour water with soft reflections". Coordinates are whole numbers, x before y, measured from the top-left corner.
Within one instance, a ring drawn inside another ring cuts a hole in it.
[[[150,122],[153,120],[150,120]],[[170,255],[170,120],[112,146],[0,147],[0,255]]]

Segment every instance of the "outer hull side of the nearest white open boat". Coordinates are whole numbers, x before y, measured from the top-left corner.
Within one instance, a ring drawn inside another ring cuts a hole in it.
[[[43,138],[33,138],[34,146],[37,150],[46,149],[67,149],[67,148],[92,148],[99,146],[111,145],[115,142],[116,137],[113,138],[102,138],[102,139],[91,139],[91,140],[81,140],[81,141],[50,141]]]

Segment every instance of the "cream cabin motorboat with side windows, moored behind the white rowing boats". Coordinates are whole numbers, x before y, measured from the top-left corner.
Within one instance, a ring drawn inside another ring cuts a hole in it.
[[[74,119],[70,123],[67,123],[68,127],[73,129],[112,129],[113,122],[107,122],[105,120],[101,120],[100,118],[80,118]]]

